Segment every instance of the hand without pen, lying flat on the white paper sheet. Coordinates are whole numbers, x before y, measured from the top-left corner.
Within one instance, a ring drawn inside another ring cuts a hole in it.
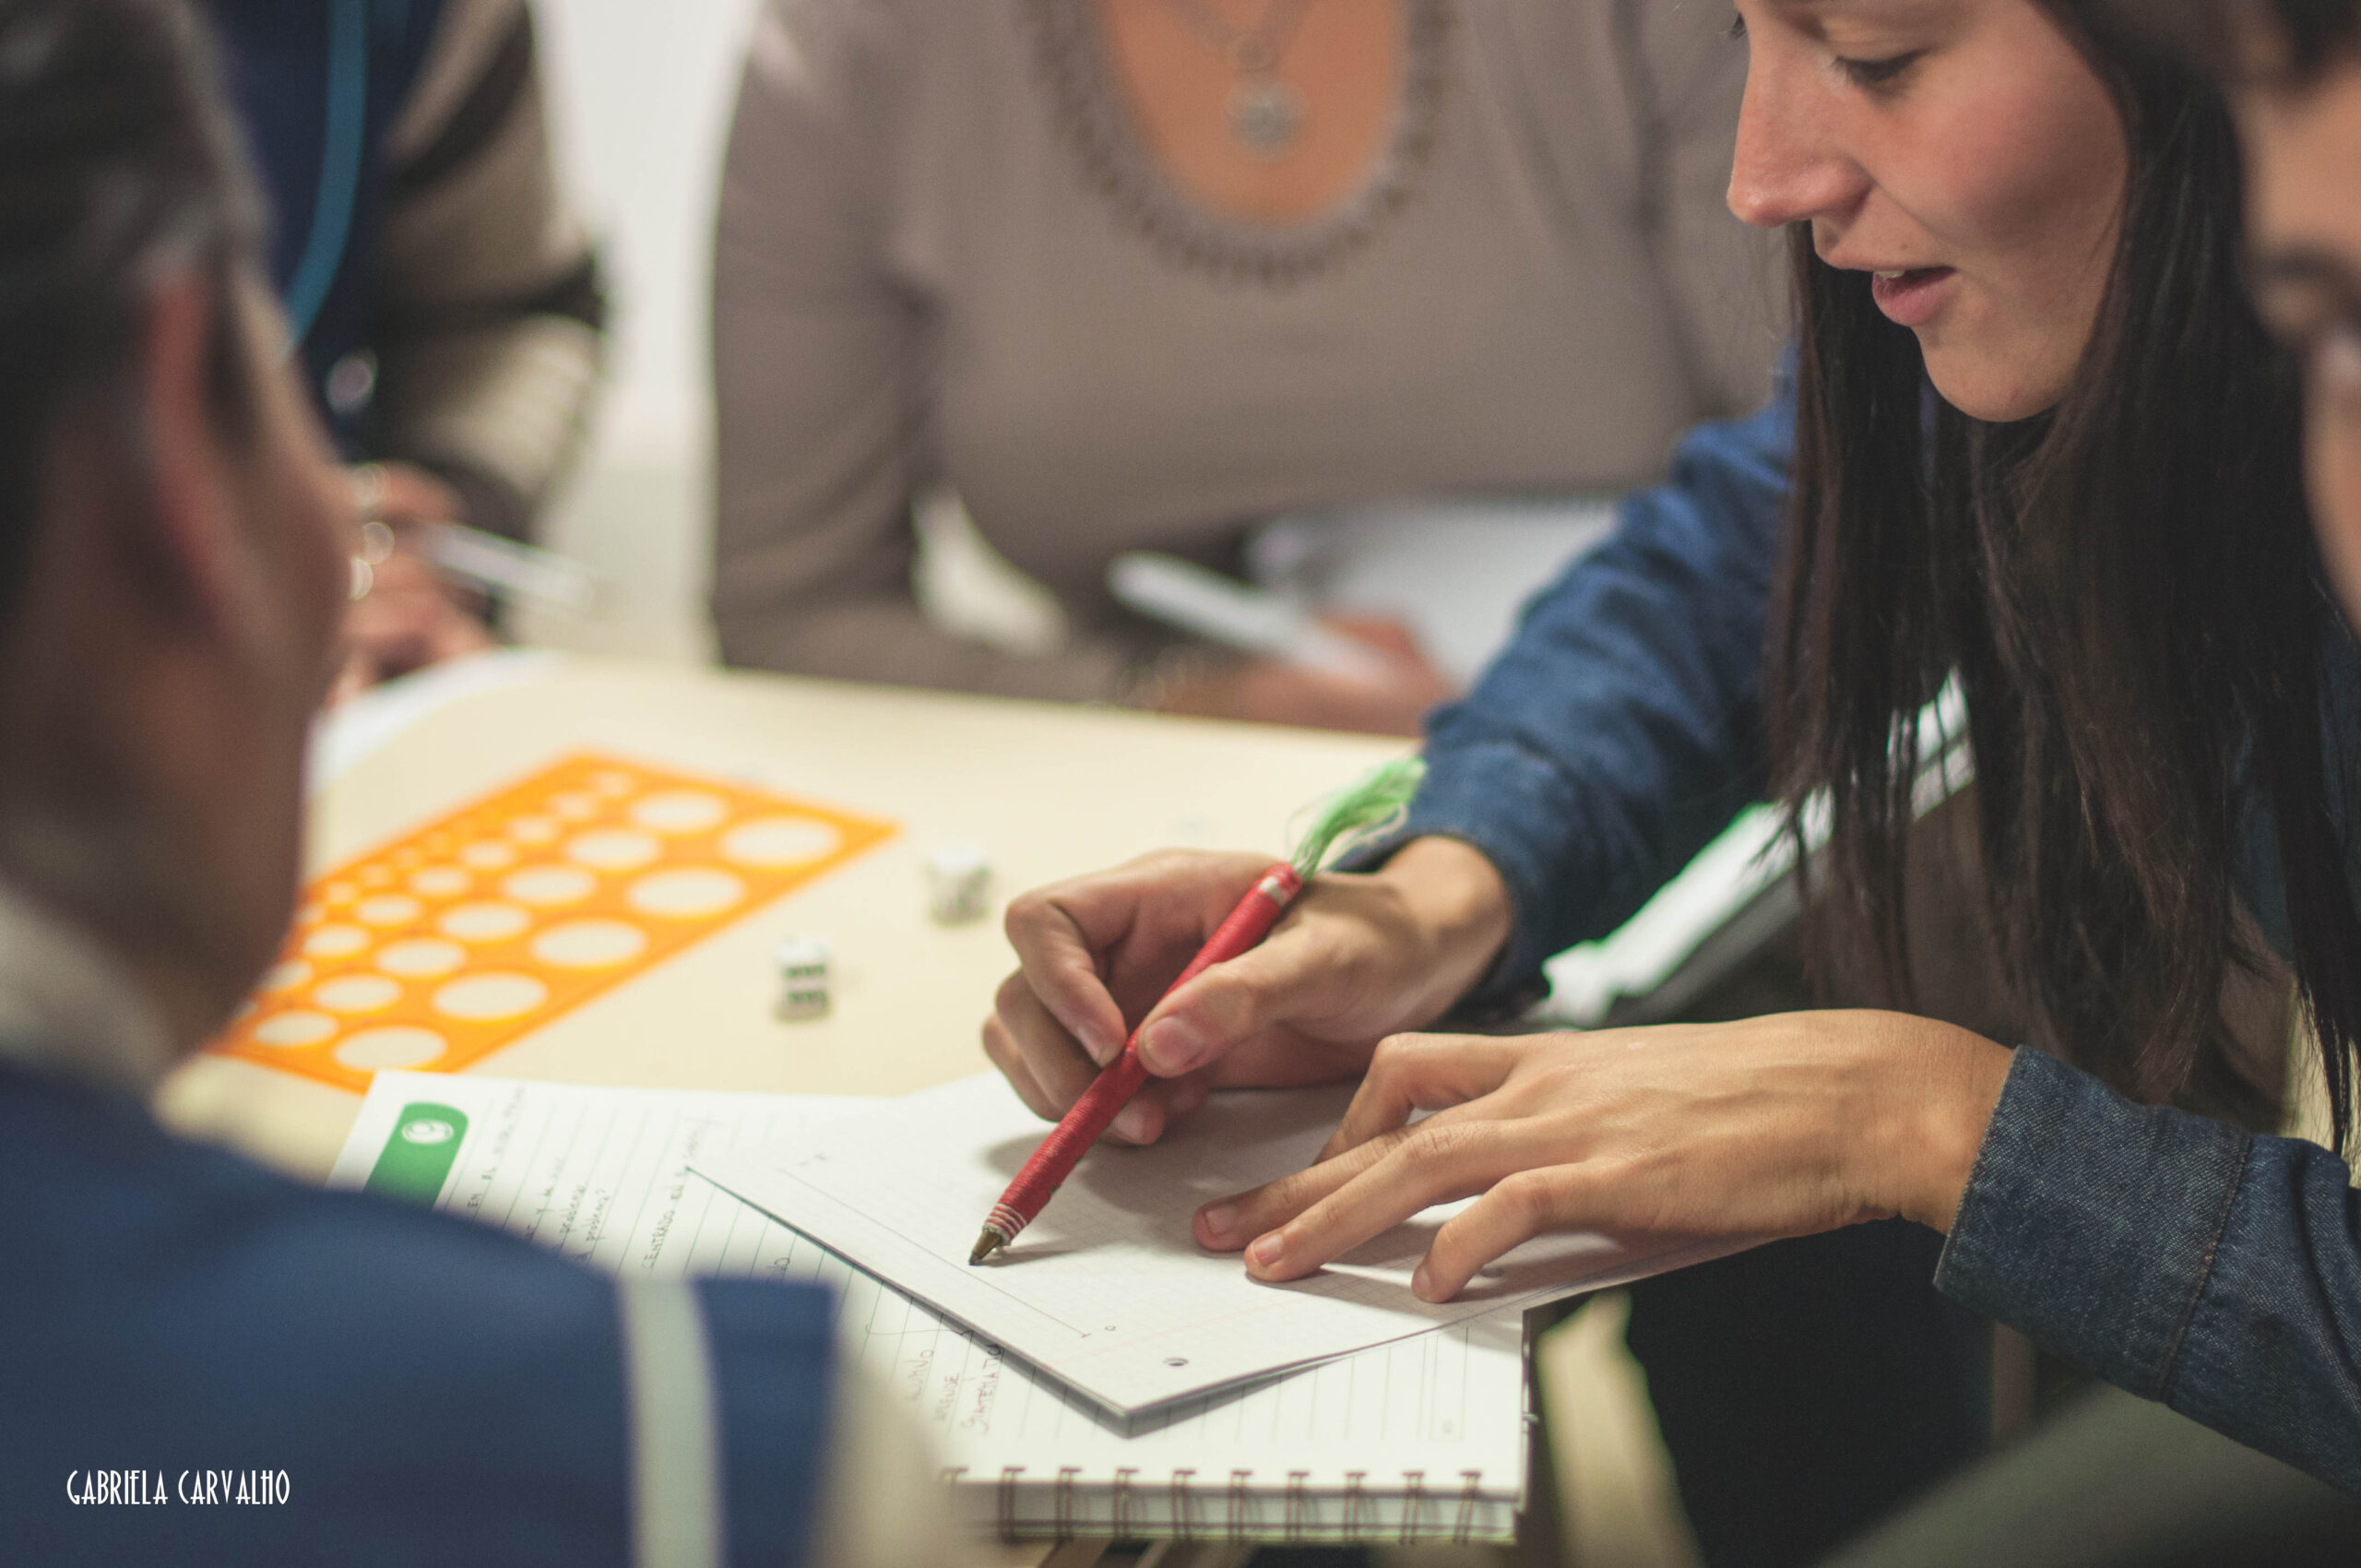
[[[1197,1240],[1296,1280],[1476,1197],[1412,1278],[1447,1301],[1544,1230],[1775,1237],[1891,1214],[1948,1230],[2007,1074],[2002,1046],[1905,1013],[1395,1034],[1320,1162],[1206,1204]]]

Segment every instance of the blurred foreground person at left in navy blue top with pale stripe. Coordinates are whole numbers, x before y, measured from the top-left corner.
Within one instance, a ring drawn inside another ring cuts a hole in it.
[[[352,529],[208,64],[182,0],[0,0],[0,1556],[961,1561],[829,1292],[153,1122],[286,935]],[[267,1507],[187,1507],[220,1464]]]

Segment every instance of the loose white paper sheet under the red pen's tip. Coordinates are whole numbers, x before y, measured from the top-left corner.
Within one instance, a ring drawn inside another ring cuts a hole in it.
[[[1235,1254],[1202,1252],[1190,1235],[1197,1204],[1310,1164],[1346,1098],[1346,1089],[1221,1093],[1152,1148],[1100,1145],[980,1268],[968,1263],[975,1233],[1048,1131],[999,1074],[890,1100],[800,1145],[692,1164],[1124,1415],[1747,1244],[1631,1249],[1551,1235],[1443,1304],[1412,1296],[1410,1270],[1452,1207],[1291,1285],[1258,1285]]]

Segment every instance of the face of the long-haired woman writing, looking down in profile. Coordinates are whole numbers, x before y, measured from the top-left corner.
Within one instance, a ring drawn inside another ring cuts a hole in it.
[[[1731,210],[1809,222],[1872,274],[1927,373],[1983,420],[2064,394],[2106,290],[2130,156],[2099,76],[2033,0],[1738,0],[1750,66]]]

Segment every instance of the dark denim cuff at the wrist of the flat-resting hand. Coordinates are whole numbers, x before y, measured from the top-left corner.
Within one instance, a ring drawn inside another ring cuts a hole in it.
[[[1936,1289],[2111,1384],[2165,1398],[2252,1133],[2134,1105],[2016,1051]]]

